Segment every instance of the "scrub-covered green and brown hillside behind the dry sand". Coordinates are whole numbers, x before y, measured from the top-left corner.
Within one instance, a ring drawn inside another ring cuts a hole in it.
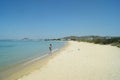
[[[111,36],[68,36],[61,38],[63,40],[74,40],[74,41],[84,41],[91,42],[95,44],[111,44],[113,46],[120,47],[120,37]]]

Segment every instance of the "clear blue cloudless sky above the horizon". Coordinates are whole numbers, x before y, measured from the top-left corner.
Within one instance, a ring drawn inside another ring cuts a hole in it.
[[[119,0],[0,0],[0,39],[120,36]]]

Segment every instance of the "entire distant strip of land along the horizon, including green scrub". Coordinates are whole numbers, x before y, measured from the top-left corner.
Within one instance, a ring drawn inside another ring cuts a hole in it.
[[[67,36],[62,38],[51,38],[51,39],[1,39],[0,41],[81,41],[81,42],[90,42],[95,44],[110,44],[112,46],[120,47],[120,36]]]

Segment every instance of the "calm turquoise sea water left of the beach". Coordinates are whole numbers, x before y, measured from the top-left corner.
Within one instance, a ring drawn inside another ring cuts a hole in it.
[[[0,69],[49,54],[49,44],[53,45],[53,50],[57,50],[61,48],[65,42],[0,41]]]

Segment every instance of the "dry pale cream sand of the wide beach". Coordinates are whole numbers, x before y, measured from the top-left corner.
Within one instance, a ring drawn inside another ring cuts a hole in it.
[[[70,41],[42,68],[18,80],[120,80],[120,48]]]

